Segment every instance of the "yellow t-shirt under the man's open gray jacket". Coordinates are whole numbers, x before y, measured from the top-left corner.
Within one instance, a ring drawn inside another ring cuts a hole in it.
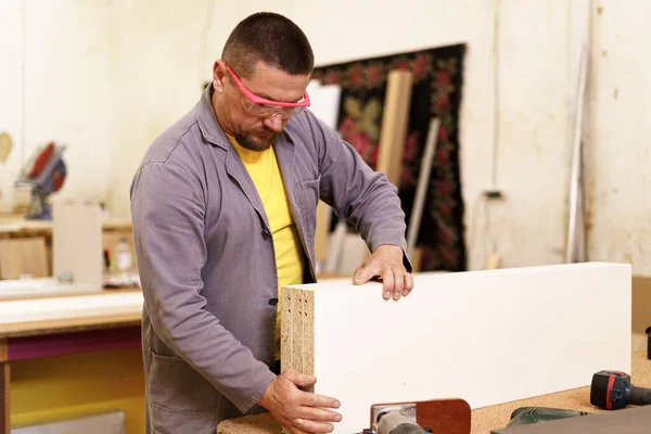
[[[228,139],[244,163],[269,219],[280,294],[281,286],[303,283],[304,255],[276,152],[273,146],[263,152],[251,151],[240,145],[233,137],[228,136]],[[280,360],[280,298],[276,314],[276,360]]]

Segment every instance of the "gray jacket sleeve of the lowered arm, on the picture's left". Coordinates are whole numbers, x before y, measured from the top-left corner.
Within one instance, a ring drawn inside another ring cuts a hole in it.
[[[158,336],[241,411],[275,378],[205,309],[203,189],[190,170],[145,164],[131,184],[133,238],[144,307]]]

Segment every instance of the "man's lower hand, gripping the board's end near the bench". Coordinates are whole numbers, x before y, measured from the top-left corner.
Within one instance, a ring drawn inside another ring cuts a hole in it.
[[[292,434],[330,433],[334,426],[328,422],[340,422],[342,417],[328,408],[339,408],[340,403],[298,388],[316,382],[314,375],[289,369],[271,381],[258,404]]]

